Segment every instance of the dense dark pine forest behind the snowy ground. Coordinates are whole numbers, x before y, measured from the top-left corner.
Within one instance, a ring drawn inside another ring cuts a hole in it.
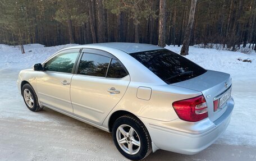
[[[1,0],[0,44],[157,45],[161,39],[162,46],[182,45],[191,1],[161,1]],[[222,44],[236,50],[249,43],[256,50],[255,20],[256,0],[198,0],[189,45]]]

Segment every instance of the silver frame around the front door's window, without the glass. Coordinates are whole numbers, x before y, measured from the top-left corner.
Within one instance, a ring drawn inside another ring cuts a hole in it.
[[[74,73],[75,73],[75,67],[76,67],[76,63],[77,63],[77,61],[79,60],[79,57],[80,57],[80,55],[81,55],[81,50],[82,50],[83,48],[72,48],[72,49],[64,49],[64,50],[61,50],[60,52],[57,52],[57,53],[55,53],[55,54],[53,54],[51,57],[49,57],[46,61],[44,61],[44,63],[43,63],[43,72],[53,72],[53,73],[64,73],[64,74],[70,74],[70,75],[74,75]],[[60,54],[63,54],[63,53],[70,53],[70,52],[77,52],[77,57],[76,57],[76,59],[75,59],[75,62],[74,62],[74,65],[73,65],[73,67],[72,67],[72,71],[71,71],[71,73],[67,73],[67,72],[57,72],[57,71],[47,71],[47,70],[45,70],[45,66],[46,66],[46,64],[47,64],[47,62],[48,61],[50,61],[51,59],[53,59],[54,57],[56,57],[56,56],[58,56],[58,55],[60,55]]]

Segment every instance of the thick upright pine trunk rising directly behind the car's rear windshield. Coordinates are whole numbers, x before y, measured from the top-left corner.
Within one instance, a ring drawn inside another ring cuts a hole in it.
[[[166,0],[159,3],[158,46],[166,46]]]

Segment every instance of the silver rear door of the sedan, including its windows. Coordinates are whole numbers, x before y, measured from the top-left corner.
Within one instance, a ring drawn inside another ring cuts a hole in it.
[[[130,76],[112,54],[84,49],[80,57],[70,89],[74,115],[101,125],[125,94]]]

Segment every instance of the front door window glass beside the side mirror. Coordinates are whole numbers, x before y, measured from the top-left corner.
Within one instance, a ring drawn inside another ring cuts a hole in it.
[[[71,73],[78,54],[79,52],[58,54],[46,63],[44,70]]]

